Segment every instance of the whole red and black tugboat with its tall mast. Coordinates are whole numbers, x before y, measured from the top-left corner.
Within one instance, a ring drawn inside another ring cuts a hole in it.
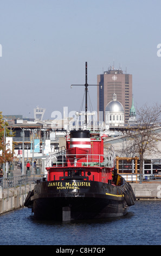
[[[87,94],[87,63],[85,87]],[[24,203],[36,219],[119,217],[136,200],[131,185],[117,174],[113,148],[104,155],[102,131],[67,131],[66,150],[50,155],[46,169],[47,180],[38,181]]]

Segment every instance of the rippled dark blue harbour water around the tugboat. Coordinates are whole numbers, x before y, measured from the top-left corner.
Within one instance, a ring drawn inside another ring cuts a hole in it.
[[[140,200],[124,217],[100,221],[36,221],[31,209],[0,215],[0,245],[161,245],[161,201]]]

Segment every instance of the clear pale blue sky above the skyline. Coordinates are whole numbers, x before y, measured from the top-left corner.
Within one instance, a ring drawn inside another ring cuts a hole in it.
[[[70,84],[85,84],[85,62],[96,84],[113,60],[133,75],[134,103],[160,103],[160,9],[160,0],[0,0],[0,110],[79,111],[84,87]]]

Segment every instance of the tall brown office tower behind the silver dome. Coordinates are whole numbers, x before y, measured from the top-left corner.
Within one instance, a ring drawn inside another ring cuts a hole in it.
[[[121,102],[125,111],[125,124],[128,123],[130,108],[132,105],[132,75],[123,73],[123,70],[110,66],[108,71],[97,76],[98,80],[98,113],[103,112],[105,121],[105,109],[107,103],[112,101],[113,94],[117,95],[117,100]]]

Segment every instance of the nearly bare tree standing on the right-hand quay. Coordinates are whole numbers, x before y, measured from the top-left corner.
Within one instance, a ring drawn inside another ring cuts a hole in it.
[[[136,114],[137,118],[133,126],[128,126],[125,130],[126,139],[122,154],[128,156],[133,154],[140,158],[140,176],[142,178],[145,153],[160,153],[158,142],[161,141],[161,105],[147,106],[145,104],[140,109],[136,109]]]

